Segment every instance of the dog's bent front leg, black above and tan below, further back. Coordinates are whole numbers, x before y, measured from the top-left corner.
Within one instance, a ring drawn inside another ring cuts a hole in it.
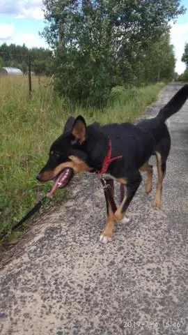
[[[127,186],[127,194],[124,196],[123,201],[121,202],[120,206],[116,210],[114,214],[114,219],[116,221],[121,221],[127,223],[127,217],[125,216],[125,213],[127,211],[127,208],[130,205],[130,202],[132,201],[132,198],[134,197],[134,194],[136,193],[137,189],[139,188],[141,184],[141,174],[140,172],[135,172],[134,175],[132,175],[131,179],[117,179],[117,181],[120,181]]]

